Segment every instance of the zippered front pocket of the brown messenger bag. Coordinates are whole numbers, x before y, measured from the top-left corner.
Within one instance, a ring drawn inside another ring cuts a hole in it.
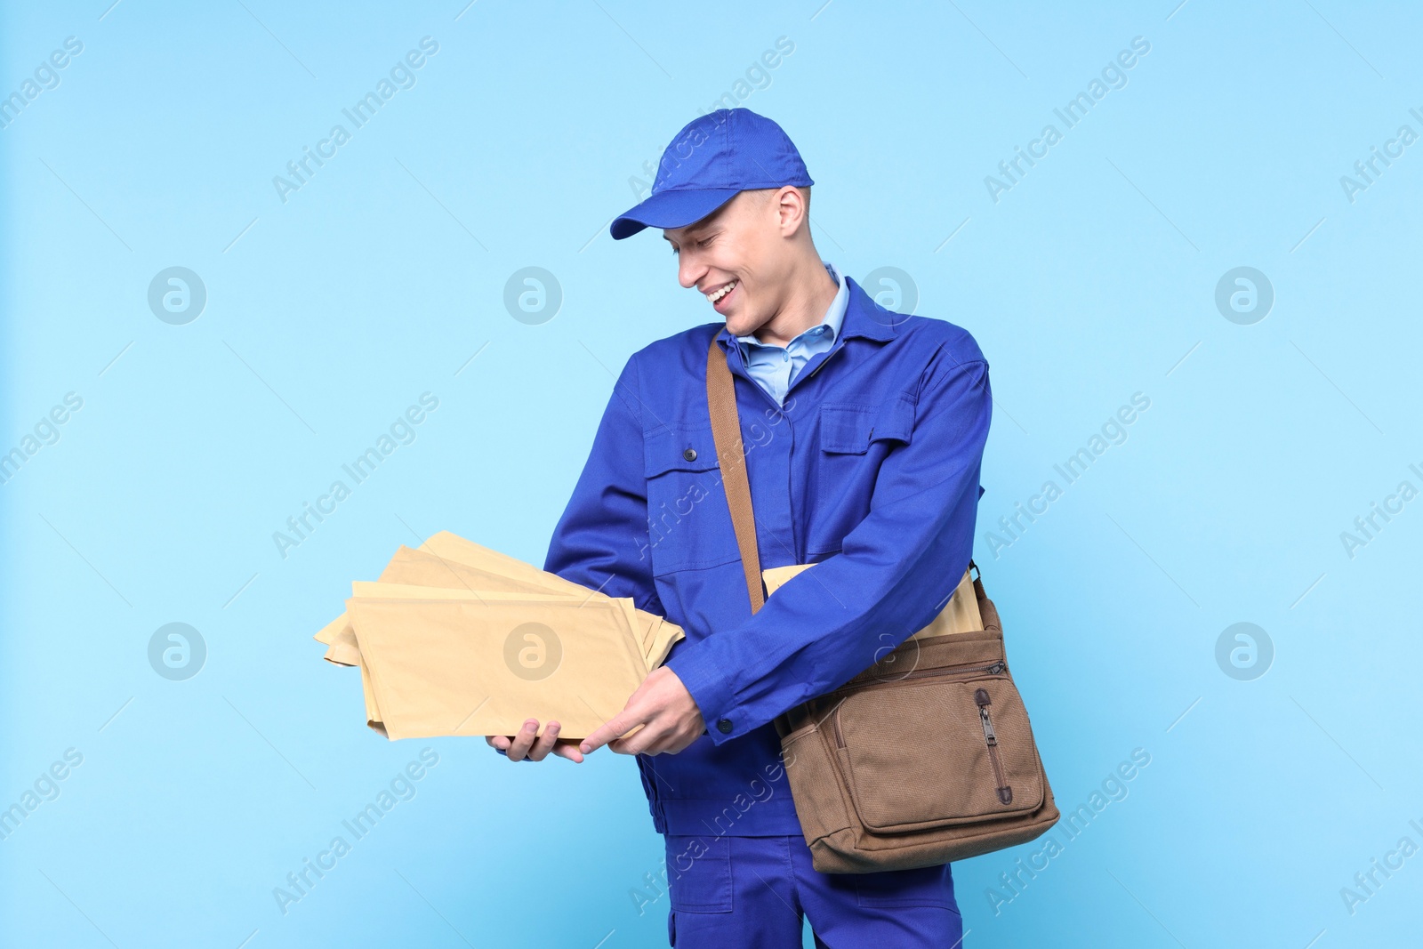
[[[919,669],[852,691],[834,711],[840,768],[861,822],[882,834],[1033,811],[1043,802],[1027,710],[1013,680]]]

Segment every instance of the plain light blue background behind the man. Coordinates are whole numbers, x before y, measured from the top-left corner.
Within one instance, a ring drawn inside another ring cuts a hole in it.
[[[0,94],[84,44],[0,129],[0,451],[84,400],[0,485],[0,807],[84,756],[0,841],[6,945],[666,945],[666,898],[629,896],[662,864],[632,760],[387,743],[310,635],[440,529],[542,563],[623,361],[716,319],[656,232],[606,225],[777,37],[744,105],[804,154],[822,256],[905,270],[992,364],[976,558],[1059,805],[1151,756],[998,913],[1042,842],[955,865],[965,945],[1417,938],[1423,855],[1352,915],[1340,888],[1423,845],[1423,501],[1353,558],[1339,535],[1423,488],[1423,144],[1352,203],[1339,178],[1423,132],[1423,16],[821,1],[6,4]],[[424,36],[417,84],[283,203],[273,175]],[[208,290],[186,326],[147,304],[169,266]],[[562,287],[546,323],[502,303],[525,266]],[[1235,266],[1274,286],[1259,323],[1215,307]],[[414,444],[283,559],[272,532],[425,391]],[[985,532],[1137,391],[1127,441],[995,558]],[[169,622],[206,642],[186,682],[148,663]],[[1251,682],[1215,660],[1237,622],[1275,649]],[[417,795],[283,915],[273,888],[423,747]]]

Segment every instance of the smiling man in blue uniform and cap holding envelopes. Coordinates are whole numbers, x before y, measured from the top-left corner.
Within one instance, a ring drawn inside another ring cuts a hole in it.
[[[891,313],[822,263],[795,145],[743,108],[690,122],[615,239],[662,228],[717,320],[622,370],[545,569],[686,630],[585,740],[529,720],[512,761],[638,756],[666,838],[675,946],[956,946],[948,865],[818,874],[773,719],[926,625],[972,551],[988,363],[968,332]],[[751,613],[712,440],[706,354],[726,353],[763,568],[815,563]],[[887,741],[912,741],[905,721]],[[894,775],[885,775],[894,780]]]

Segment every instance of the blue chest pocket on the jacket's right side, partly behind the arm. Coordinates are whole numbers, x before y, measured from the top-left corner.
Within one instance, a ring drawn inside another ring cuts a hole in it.
[[[821,404],[808,556],[840,551],[845,535],[869,514],[879,465],[885,455],[914,437],[914,403],[904,396],[878,405]]]

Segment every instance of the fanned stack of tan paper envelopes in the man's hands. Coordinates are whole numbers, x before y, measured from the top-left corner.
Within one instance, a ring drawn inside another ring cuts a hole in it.
[[[351,583],[316,639],[359,666],[366,724],[390,740],[515,734],[528,719],[585,738],[622,711],[682,627],[448,531]]]

